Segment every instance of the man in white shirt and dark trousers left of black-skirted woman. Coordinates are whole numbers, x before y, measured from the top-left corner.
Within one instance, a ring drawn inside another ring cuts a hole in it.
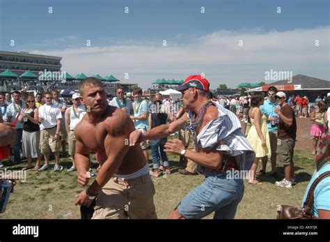
[[[13,91],[13,103],[8,105],[7,109],[7,121],[9,123],[14,123],[17,116],[19,116],[22,110],[26,107],[23,100],[21,100],[21,93],[19,91]],[[10,156],[9,160],[14,161],[15,163],[21,162],[20,149],[21,149],[21,141],[23,134],[23,123],[19,123],[18,121],[15,123],[16,136],[14,142],[14,157]]]

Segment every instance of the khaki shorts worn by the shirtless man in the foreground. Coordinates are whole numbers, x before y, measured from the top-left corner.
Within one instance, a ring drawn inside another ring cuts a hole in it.
[[[111,179],[96,197],[92,219],[156,219],[150,174],[136,179]]]

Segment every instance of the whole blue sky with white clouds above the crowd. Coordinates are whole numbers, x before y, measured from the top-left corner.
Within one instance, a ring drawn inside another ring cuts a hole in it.
[[[129,73],[123,82],[143,88],[158,78],[201,72],[213,88],[221,83],[235,87],[261,81],[271,68],[329,80],[329,1],[0,3],[0,50],[62,56],[63,70],[74,75],[114,74],[123,80]],[[239,39],[244,47],[236,50]],[[320,41],[317,48],[315,40]]]

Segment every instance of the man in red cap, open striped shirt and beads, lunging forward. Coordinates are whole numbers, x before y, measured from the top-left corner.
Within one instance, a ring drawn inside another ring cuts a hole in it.
[[[215,212],[216,219],[233,219],[244,194],[243,177],[227,175],[249,169],[255,154],[237,116],[212,103],[209,86],[201,75],[187,77],[176,88],[182,92],[187,114],[146,133],[136,130],[129,137],[129,145],[135,146],[141,139],[161,139],[184,127],[195,140],[196,151],[187,149],[179,139],[168,139],[165,144],[166,152],[194,160],[198,172],[205,175],[201,186],[191,190],[168,218],[199,219]]]

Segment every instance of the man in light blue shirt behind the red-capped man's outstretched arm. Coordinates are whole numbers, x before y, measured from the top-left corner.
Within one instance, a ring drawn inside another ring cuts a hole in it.
[[[141,130],[142,133],[145,133],[148,130],[148,103],[146,100],[142,100],[142,89],[136,88],[133,91],[134,96],[134,116],[131,116],[131,119],[134,121],[134,126],[136,130]],[[146,146],[146,140],[141,142],[141,148],[143,149],[144,156],[146,156],[147,163],[149,162],[148,150]]]

